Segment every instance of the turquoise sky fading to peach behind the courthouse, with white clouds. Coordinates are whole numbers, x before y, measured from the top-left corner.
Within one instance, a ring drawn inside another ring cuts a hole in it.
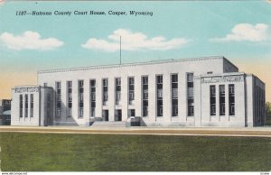
[[[51,15],[33,15],[33,11]],[[104,14],[90,15],[90,11]],[[37,84],[37,70],[119,63],[120,35],[123,63],[224,56],[239,71],[266,82],[266,100],[271,101],[267,0],[1,0],[0,99],[11,98],[14,86]]]

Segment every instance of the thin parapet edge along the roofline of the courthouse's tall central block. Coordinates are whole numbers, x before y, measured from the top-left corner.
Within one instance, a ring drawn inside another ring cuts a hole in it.
[[[135,62],[135,63],[124,63],[124,64],[111,64],[111,65],[98,65],[89,67],[79,67],[79,68],[69,68],[69,69],[45,69],[38,70],[38,74],[53,73],[53,72],[67,72],[67,71],[77,71],[77,70],[87,70],[87,69],[109,69],[109,68],[123,68],[129,66],[142,66],[142,65],[154,65],[154,64],[164,64],[172,62],[185,62],[185,61],[196,61],[196,60],[226,60],[233,67],[237,68],[229,60],[223,56],[210,56],[210,57],[200,57],[200,58],[190,58],[190,59],[172,59],[172,60],[151,60],[145,62]]]

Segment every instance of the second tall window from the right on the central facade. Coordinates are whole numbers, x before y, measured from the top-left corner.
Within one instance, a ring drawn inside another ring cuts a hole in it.
[[[172,115],[178,115],[178,74],[172,75]]]

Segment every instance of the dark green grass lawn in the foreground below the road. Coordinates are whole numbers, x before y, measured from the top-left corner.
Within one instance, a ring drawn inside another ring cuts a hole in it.
[[[5,171],[266,171],[271,138],[0,133]]]

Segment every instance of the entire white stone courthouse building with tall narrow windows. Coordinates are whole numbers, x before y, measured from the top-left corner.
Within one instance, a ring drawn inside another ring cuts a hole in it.
[[[265,83],[224,57],[38,71],[12,89],[12,125],[89,125],[140,116],[162,126],[258,126]]]

